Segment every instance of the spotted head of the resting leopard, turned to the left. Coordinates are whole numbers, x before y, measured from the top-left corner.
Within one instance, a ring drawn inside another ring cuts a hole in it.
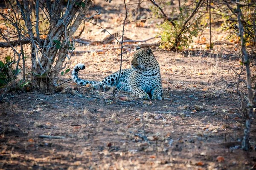
[[[136,47],[136,52],[131,61],[131,68],[135,71],[148,71],[150,69],[159,69],[159,64],[155,59],[155,56],[151,48],[140,48]]]

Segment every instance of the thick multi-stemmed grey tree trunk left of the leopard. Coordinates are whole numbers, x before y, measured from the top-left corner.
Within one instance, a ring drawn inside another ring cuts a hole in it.
[[[77,5],[82,3],[81,6]],[[50,18],[47,38],[41,49],[32,44],[32,89],[52,94],[55,92],[54,84],[58,80],[58,74],[68,55],[70,48],[68,42],[79,28],[92,2],[91,0],[70,0],[66,10],[62,10],[61,0],[54,2],[47,0],[47,4],[49,5],[47,7]],[[38,44],[40,43],[38,42]],[[38,51],[40,50],[39,54]],[[37,61],[36,66],[33,66],[35,63],[33,61]]]

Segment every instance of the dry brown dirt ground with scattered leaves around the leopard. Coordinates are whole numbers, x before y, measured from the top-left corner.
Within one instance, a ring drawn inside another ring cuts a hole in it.
[[[132,40],[155,36],[157,28],[151,21],[140,24],[128,24],[125,36]],[[106,20],[101,25],[111,33],[120,29]],[[106,36],[90,25],[82,39],[96,41]],[[118,46],[116,42],[77,43],[80,52],[67,60],[67,68],[84,63],[80,78],[104,78],[119,69]],[[216,45],[211,52],[205,44],[194,46],[198,50],[184,52],[152,47],[160,63],[163,101],[145,101],[127,92],[113,97],[111,92],[71,81],[53,95],[0,89],[0,170],[253,169],[256,126],[253,122],[251,149],[241,150],[243,113],[236,86],[227,85],[241,66],[223,50],[227,44]],[[10,49],[0,50],[11,54]],[[86,50],[102,51],[81,53]],[[124,52],[122,68],[128,68],[134,51]],[[59,83],[70,77],[70,72],[60,75]]]

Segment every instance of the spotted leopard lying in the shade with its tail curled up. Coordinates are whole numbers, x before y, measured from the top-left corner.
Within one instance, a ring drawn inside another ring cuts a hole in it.
[[[131,92],[132,95],[144,100],[163,99],[160,66],[151,48],[137,46],[131,60],[131,68],[114,72],[103,78],[102,81],[88,81],[79,78],[78,72],[83,69],[85,69],[85,65],[78,63],[72,71],[72,79],[78,85],[91,84],[94,89],[116,86],[117,89]],[[117,82],[118,77],[119,81]]]

